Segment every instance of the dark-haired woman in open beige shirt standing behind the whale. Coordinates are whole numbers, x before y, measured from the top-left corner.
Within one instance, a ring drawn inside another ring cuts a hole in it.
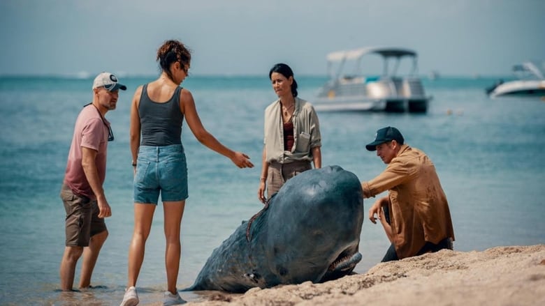
[[[297,97],[297,82],[285,63],[270,69],[278,100],[265,109],[263,157],[257,197],[264,204],[300,172],[321,167],[321,135],[314,107]]]

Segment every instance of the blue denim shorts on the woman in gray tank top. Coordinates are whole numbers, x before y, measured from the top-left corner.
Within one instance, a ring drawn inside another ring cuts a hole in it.
[[[155,204],[183,201],[187,192],[187,162],[181,144],[140,146],[134,176],[134,202]]]

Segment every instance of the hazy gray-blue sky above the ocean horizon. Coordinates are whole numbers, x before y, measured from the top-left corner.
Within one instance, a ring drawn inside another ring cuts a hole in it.
[[[194,75],[326,75],[329,52],[370,46],[414,49],[421,74],[509,75],[545,60],[545,0],[0,1],[0,75],[157,75],[169,39]]]

